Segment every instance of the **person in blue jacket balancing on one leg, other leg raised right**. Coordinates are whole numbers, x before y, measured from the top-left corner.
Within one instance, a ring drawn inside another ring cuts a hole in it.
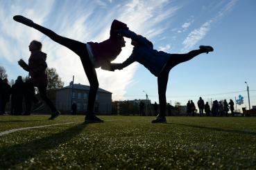
[[[158,95],[160,103],[160,114],[152,123],[166,123],[165,106],[167,103],[166,91],[169,72],[171,68],[202,53],[212,52],[211,46],[199,46],[199,50],[192,50],[187,54],[169,54],[163,51],[153,49],[153,44],[142,35],[137,35],[130,30],[117,30],[119,35],[132,39],[131,44],[134,46],[133,53],[122,64],[112,64],[112,69],[123,69],[133,62],[139,62],[157,77]]]

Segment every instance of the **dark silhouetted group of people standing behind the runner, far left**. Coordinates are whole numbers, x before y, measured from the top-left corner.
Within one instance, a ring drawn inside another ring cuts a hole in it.
[[[2,79],[0,75],[0,115],[9,114],[9,115],[31,115],[31,97],[27,97],[20,90],[22,85],[24,85],[22,76],[18,76],[15,80],[15,84],[10,86],[8,84],[8,79]],[[35,93],[34,86],[31,87],[30,91]],[[25,100],[25,108],[23,108],[23,101]],[[10,102],[10,111],[6,111],[6,105]]]

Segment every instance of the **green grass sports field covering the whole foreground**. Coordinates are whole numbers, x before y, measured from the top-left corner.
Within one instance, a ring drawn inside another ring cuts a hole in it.
[[[0,117],[0,169],[256,169],[255,117],[48,117]]]

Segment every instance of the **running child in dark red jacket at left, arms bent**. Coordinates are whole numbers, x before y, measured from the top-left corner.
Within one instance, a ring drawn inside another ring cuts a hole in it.
[[[51,108],[52,114],[49,120],[54,120],[56,117],[60,115],[60,112],[57,111],[56,107],[53,105],[53,102],[49,100],[46,95],[46,86],[48,84],[48,77],[46,74],[46,53],[43,53],[42,50],[42,43],[40,41],[31,41],[31,44],[28,46],[29,50],[31,51],[31,57],[28,59],[28,64],[24,62],[23,59],[20,59],[18,64],[24,70],[29,72],[31,78],[28,79],[22,86],[20,90],[24,93],[26,97],[31,97],[31,100],[34,103],[34,106],[31,111],[36,111],[38,108],[42,107],[44,104],[37,100],[31,89],[33,86],[37,86],[40,96],[42,100]]]

